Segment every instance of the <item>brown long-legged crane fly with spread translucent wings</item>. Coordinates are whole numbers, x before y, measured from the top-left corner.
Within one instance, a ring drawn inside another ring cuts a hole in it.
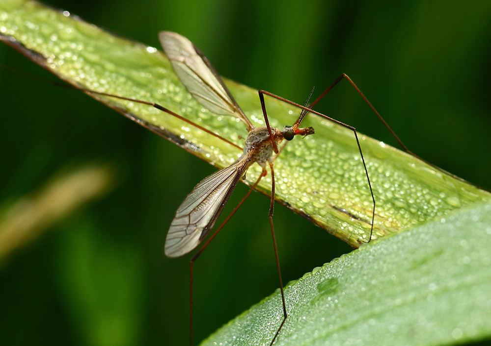
[[[309,107],[301,106],[294,102],[277,97],[271,93],[265,91],[259,91],[259,98],[261,101],[261,107],[264,115],[266,126],[255,127],[249,119],[246,117],[236,100],[225,86],[223,80],[215,70],[215,68],[208,61],[206,56],[196,48],[190,40],[174,32],[163,31],[159,34],[159,39],[164,48],[164,52],[169,58],[175,73],[178,75],[181,82],[188,89],[191,95],[201,105],[206,107],[211,112],[218,115],[229,115],[238,117],[245,125],[248,131],[248,135],[245,140],[244,152],[242,156],[237,159],[229,167],[223,168],[216,173],[206,177],[199,182],[191,193],[184,199],[181,205],[178,207],[175,217],[172,220],[167,237],[165,240],[165,254],[169,257],[182,256],[193,249],[195,249],[204,238],[210,233],[212,227],[218,219],[223,207],[228,201],[234,187],[237,185],[239,179],[246,173],[247,169],[253,163],[258,163],[262,168],[262,173],[256,182],[252,185],[249,193],[257,186],[262,177],[267,174],[267,165],[270,167],[272,189],[271,189],[271,204],[269,210],[269,219],[271,225],[271,234],[273,237],[273,248],[276,259],[276,267],[278,271],[278,278],[280,284],[280,292],[283,305],[283,320],[281,321],[276,333],[274,334],[271,344],[278,336],[284,322],[287,318],[285,297],[283,292],[283,284],[281,279],[281,271],[278,259],[278,251],[276,247],[276,240],[274,236],[273,227],[273,204],[274,204],[274,170],[273,161],[274,154],[279,153],[279,145],[283,140],[291,141],[297,135],[310,135],[314,134],[312,127],[301,128],[300,123],[307,115],[308,112],[312,112],[323,116],[329,120],[332,120],[314,110],[311,109],[319,99],[321,99],[328,90],[324,92],[317,100],[315,100]],[[337,82],[336,82],[337,83]],[[297,107],[300,107],[300,117],[293,125],[286,125],[282,129],[272,128],[268,121],[266,113],[266,105],[264,102],[264,95],[269,95],[277,99],[286,101]],[[335,120],[333,120],[335,121]],[[340,122],[335,121],[338,124]],[[368,177],[368,171],[365,165],[361,147],[359,145],[356,131],[351,126],[347,126],[353,129],[355,133],[356,142],[362,158],[363,166],[370,187],[370,192],[373,199],[373,214],[371,231],[373,230],[373,219],[375,216],[375,198],[373,196],[372,187],[370,185],[370,179]],[[248,194],[249,194],[248,193]],[[232,211],[228,219],[235,213],[237,208],[247,198],[248,194],[242,199],[239,205]],[[224,223],[225,223],[224,222]],[[220,225],[210,239],[196,252],[191,258],[190,263],[190,316],[191,316],[191,328],[190,328],[190,343],[192,346],[192,268],[194,261],[199,257],[202,251],[207,247],[210,241],[215,237],[221,227]],[[371,236],[371,234],[370,234]]]

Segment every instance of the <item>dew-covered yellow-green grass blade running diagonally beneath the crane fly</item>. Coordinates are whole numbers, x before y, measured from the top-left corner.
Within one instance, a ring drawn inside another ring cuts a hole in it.
[[[67,82],[157,102],[242,146],[246,136],[243,124],[203,109],[159,50],[33,1],[2,1],[0,20],[2,41]],[[257,91],[226,83],[246,115],[262,124]],[[237,148],[152,107],[97,99],[217,167],[229,165],[240,155]],[[273,126],[292,124],[299,113],[274,99],[267,99],[267,109]],[[353,133],[314,116],[304,125],[313,126],[316,134],[295,140],[275,161],[276,198],[357,247],[369,236],[372,202]],[[360,135],[360,142],[377,202],[374,237],[491,197],[374,139]],[[259,172],[258,167],[251,167],[247,181],[254,181]],[[267,177],[259,190],[269,194],[270,189]]]

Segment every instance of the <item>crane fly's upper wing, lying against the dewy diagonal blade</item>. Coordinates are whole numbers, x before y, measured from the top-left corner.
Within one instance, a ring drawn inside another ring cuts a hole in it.
[[[254,128],[215,68],[190,40],[170,31],[159,33],[159,39],[174,71],[194,99],[213,113],[239,117],[247,131]]]

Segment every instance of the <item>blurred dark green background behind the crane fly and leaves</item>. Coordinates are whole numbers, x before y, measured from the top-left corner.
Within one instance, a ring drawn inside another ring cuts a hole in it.
[[[489,1],[46,2],[154,47],[177,31],[223,76],[300,103],[346,73],[413,152],[491,187]],[[0,62],[50,77],[5,45]],[[68,164],[122,180],[1,262],[0,343],[188,344],[190,256],[163,245],[213,167],[79,92],[0,71],[0,98],[2,208]],[[316,109],[395,143],[347,83]],[[268,203],[253,194],[196,263],[196,342],[277,288]],[[284,207],[274,222],[285,283],[350,251]]]

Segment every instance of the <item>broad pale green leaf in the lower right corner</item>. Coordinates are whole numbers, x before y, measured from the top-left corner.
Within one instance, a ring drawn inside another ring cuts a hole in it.
[[[491,338],[491,203],[370,243],[285,289],[287,345],[461,345]],[[201,345],[269,345],[276,292]]]

